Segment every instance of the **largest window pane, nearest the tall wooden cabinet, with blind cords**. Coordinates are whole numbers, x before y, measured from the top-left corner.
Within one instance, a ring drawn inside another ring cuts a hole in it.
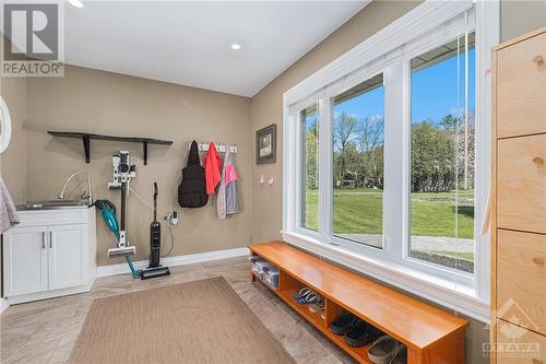
[[[474,271],[474,39],[412,59],[410,255],[465,272]]]

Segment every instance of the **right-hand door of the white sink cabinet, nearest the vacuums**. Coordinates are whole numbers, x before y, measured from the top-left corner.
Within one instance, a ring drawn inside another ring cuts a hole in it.
[[[87,235],[85,225],[49,227],[49,290],[87,283]]]

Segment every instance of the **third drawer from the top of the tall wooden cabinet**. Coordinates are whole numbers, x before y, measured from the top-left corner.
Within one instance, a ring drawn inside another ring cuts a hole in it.
[[[499,230],[497,237],[497,315],[546,334],[546,235]]]

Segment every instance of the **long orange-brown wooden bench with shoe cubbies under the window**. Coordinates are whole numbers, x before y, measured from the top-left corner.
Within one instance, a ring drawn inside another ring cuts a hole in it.
[[[278,267],[280,286],[273,292],[359,363],[371,363],[368,345],[352,348],[330,330],[343,310],[406,344],[408,364],[464,363],[465,319],[282,242],[251,245],[249,249],[252,256]],[[252,270],[250,274],[256,280]],[[304,286],[325,297],[324,318],[294,300]]]

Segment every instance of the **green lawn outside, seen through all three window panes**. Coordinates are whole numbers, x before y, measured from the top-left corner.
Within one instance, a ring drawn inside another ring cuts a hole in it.
[[[355,193],[356,192],[356,193]],[[459,193],[460,199],[473,199],[472,191]],[[455,208],[450,201],[454,193],[412,193],[412,235],[455,236]],[[458,210],[461,238],[473,238],[474,206]],[[381,234],[383,225],[381,190],[334,190],[334,232]],[[306,226],[318,227],[318,192],[307,193]]]

